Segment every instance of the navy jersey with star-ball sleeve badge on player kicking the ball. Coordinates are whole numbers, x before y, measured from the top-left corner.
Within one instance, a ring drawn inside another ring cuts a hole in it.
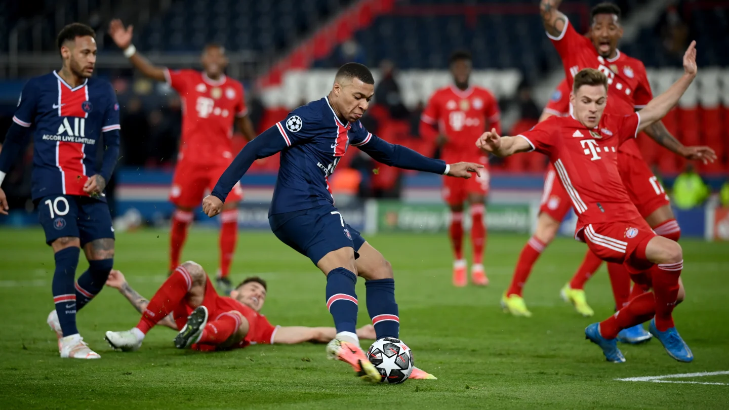
[[[333,204],[328,178],[349,145],[361,147],[372,139],[359,121],[342,123],[327,97],[290,112],[276,128],[286,148],[269,214]]]

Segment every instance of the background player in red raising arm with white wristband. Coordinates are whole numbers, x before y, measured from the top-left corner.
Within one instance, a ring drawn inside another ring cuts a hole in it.
[[[170,201],[176,209],[172,214],[170,234],[170,271],[179,265],[180,253],[192,223],[192,209],[200,204],[205,190],[212,190],[218,177],[233,160],[233,123],[246,139],[255,132],[246,108],[243,85],[226,77],[225,49],[219,45],[206,45],[200,56],[203,71],[170,70],[152,66],[132,44],[133,26],[124,28],[121,20],[112,20],[109,35],[129,58],[132,65],[145,77],[164,81],[182,98],[182,138],[178,163],[172,180]],[[230,293],[228,279],[230,263],[238,239],[238,202],[243,190],[235,185],[220,216],[220,267],[217,285]]]

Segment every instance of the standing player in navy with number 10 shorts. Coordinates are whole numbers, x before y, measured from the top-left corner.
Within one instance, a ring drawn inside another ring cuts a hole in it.
[[[0,183],[35,125],[33,201],[55,258],[55,310],[48,323],[58,323],[61,357],[98,359],[79,335],[76,313],[101,292],[114,265],[114,228],[104,189],[119,156],[119,104],[109,82],[91,77],[96,63],[92,28],[69,24],[57,45],[61,70],[34,77],[23,87],[0,152]],[[96,163],[98,150],[104,151],[101,164]],[[0,189],[0,213],[7,210]],[[89,268],[74,282],[82,248]]]

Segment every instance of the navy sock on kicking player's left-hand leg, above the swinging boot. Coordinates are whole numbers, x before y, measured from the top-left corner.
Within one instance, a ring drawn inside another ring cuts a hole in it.
[[[345,268],[332,269],[327,275],[327,309],[334,318],[337,333],[351,332],[356,335],[356,283],[357,276]]]

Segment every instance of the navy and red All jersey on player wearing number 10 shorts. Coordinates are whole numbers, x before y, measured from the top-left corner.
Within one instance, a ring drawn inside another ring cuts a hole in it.
[[[12,120],[23,127],[35,125],[34,200],[88,196],[83,186],[100,174],[96,153],[102,134],[120,129],[119,104],[109,82],[89,78],[71,88],[55,71],[28,81]]]

